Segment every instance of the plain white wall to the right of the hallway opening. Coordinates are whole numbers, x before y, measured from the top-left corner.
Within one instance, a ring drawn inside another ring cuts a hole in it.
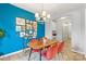
[[[82,11],[72,13],[72,47],[77,52],[84,52],[83,28],[82,28]]]

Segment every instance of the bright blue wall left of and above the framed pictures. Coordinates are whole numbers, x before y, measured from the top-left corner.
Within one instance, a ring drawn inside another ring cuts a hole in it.
[[[20,38],[15,31],[15,17],[35,20],[34,13],[16,8],[9,3],[0,3],[0,28],[5,37],[0,39],[0,52],[8,54],[23,49],[25,39]]]

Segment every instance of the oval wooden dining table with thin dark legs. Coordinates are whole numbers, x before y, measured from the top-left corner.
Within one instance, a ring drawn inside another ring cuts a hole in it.
[[[32,54],[33,49],[38,49],[38,50],[39,50],[39,54],[40,54],[40,59],[39,59],[39,60],[41,61],[41,51],[42,51],[42,49],[48,48],[48,47],[51,47],[51,46],[53,46],[56,42],[58,42],[58,41],[48,40],[48,42],[47,42],[46,44],[44,44],[44,43],[40,42],[40,41],[38,41],[38,43],[36,43],[36,44],[29,43],[30,52],[29,52],[28,60],[30,59],[30,54]]]

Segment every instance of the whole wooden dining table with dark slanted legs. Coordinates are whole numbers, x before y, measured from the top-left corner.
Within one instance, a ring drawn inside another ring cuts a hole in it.
[[[48,47],[51,47],[53,44],[56,44],[58,42],[58,40],[53,40],[53,39],[48,39],[46,43],[44,43],[42,39],[41,40],[38,40],[37,43],[32,43],[29,42],[29,48],[30,48],[30,51],[29,51],[29,56],[28,56],[28,61],[30,59],[30,55],[32,55],[32,51],[35,49],[39,50],[39,61],[41,61],[41,51],[45,49],[45,48],[48,48]]]

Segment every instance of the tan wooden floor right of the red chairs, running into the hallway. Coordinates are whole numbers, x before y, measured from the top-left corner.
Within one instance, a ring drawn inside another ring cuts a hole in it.
[[[69,55],[69,57],[70,57],[71,61],[86,61],[86,57],[85,57],[84,54],[81,54],[81,53],[77,53],[77,52],[72,51],[71,38],[65,39],[64,53],[66,55]]]

